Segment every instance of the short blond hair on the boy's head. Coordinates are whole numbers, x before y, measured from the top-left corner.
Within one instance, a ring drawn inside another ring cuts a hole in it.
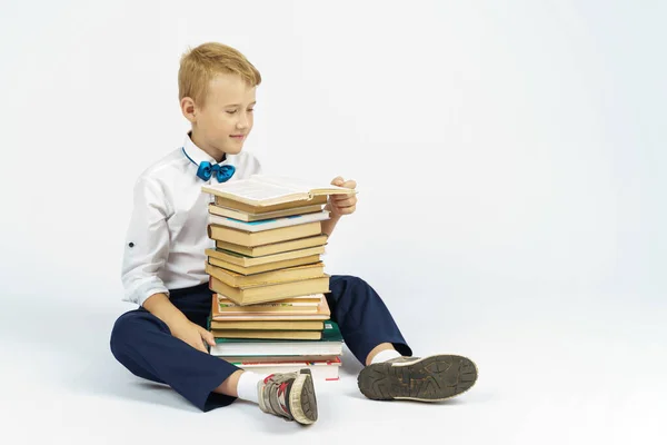
[[[190,97],[203,107],[209,82],[221,73],[237,75],[251,87],[261,83],[261,76],[240,51],[227,44],[208,42],[189,49],[180,59],[178,99]]]

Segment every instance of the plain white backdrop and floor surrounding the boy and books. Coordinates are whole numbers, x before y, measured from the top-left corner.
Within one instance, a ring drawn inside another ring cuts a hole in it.
[[[666,19],[661,1],[2,1],[2,442],[664,437]],[[201,414],[113,359],[133,181],[181,144],[179,58],[211,40],[263,77],[245,149],[265,171],[358,181],[328,271],[369,281],[417,355],[472,358],[472,390],[370,402],[348,355],[303,429]]]

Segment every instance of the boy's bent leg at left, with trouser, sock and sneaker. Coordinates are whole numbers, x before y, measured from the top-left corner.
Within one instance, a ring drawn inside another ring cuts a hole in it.
[[[172,290],[170,299],[190,322],[206,327],[211,304],[208,284]],[[243,372],[173,337],[162,320],[143,308],[116,322],[111,352],[132,374],[171,386],[205,412],[241,397],[300,424],[317,421],[309,370],[270,376]]]

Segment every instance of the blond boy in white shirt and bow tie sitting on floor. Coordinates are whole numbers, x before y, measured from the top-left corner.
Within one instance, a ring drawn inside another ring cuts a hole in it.
[[[260,172],[242,151],[252,129],[256,88],[261,77],[236,49],[201,44],[181,58],[179,99],[191,123],[182,147],[145,170],[135,186],[132,216],[122,263],[125,300],[139,305],[118,318],[111,352],[137,376],[167,384],[202,411],[236,398],[299,424],[318,418],[308,369],[258,375],[207,353],[213,345],[206,330],[211,291],[203,267],[208,204],[201,191],[210,181],[237,180]],[[332,184],[356,188],[338,177]],[[331,235],[357,198],[332,196]],[[460,356],[416,358],[387,307],[364,280],[331,276],[327,300],[352,354],[366,365],[358,385],[372,399],[440,400],[470,388],[477,379],[472,362]]]

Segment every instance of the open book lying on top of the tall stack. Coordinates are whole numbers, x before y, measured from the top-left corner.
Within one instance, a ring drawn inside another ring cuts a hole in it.
[[[252,175],[247,179],[207,184],[201,190],[251,206],[272,206],[291,201],[308,201],[322,195],[355,195],[349,188],[313,185],[308,181],[278,176]]]

